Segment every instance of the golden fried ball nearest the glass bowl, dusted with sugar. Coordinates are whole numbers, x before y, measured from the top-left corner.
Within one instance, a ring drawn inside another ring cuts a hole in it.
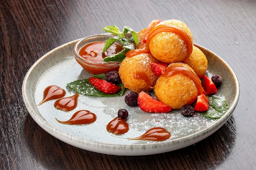
[[[119,76],[124,87],[133,92],[150,92],[157,81],[157,76],[152,72],[150,63],[158,62],[151,54],[138,54],[133,57],[126,57],[120,65]],[[134,74],[145,78],[134,78]],[[151,86],[151,87],[150,87]]]

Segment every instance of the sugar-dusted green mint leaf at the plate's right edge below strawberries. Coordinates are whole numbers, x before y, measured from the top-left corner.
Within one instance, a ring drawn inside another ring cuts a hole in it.
[[[208,96],[208,98],[209,109],[200,114],[208,118],[221,118],[229,109],[229,104],[218,96]]]

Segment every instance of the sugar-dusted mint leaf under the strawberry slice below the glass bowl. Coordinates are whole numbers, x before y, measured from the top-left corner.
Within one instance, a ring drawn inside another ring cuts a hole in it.
[[[101,78],[105,80],[105,74],[94,75],[96,78]],[[82,95],[88,96],[98,96],[98,97],[114,97],[114,96],[122,96],[124,94],[125,88],[123,83],[119,83],[118,86],[121,87],[119,92],[115,94],[106,94],[98,89],[96,89],[90,82],[89,79],[76,80],[67,84],[68,89],[72,89],[74,92]]]

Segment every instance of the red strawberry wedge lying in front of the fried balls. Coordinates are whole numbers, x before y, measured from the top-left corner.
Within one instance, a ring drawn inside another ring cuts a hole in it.
[[[138,97],[138,105],[141,110],[151,113],[167,113],[171,111],[171,107],[146,94],[140,92]]]

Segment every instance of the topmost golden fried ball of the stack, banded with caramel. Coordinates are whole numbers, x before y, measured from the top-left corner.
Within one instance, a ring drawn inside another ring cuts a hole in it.
[[[159,24],[170,24],[182,29],[193,44],[193,36],[188,26],[180,20],[165,20]],[[182,62],[187,56],[187,47],[180,35],[171,32],[156,34],[149,42],[151,54],[163,63]]]

